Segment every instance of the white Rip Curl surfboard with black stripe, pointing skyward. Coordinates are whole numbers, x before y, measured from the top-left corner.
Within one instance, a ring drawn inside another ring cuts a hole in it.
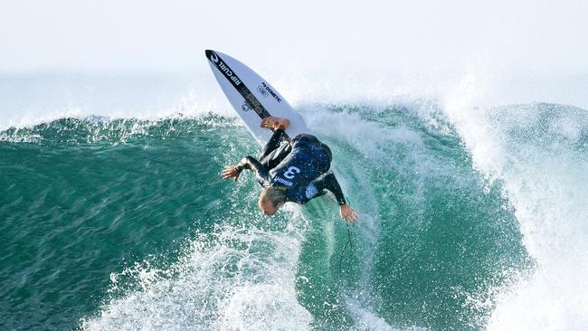
[[[288,118],[289,137],[310,133],[304,120],[267,80],[229,55],[211,50],[205,53],[224,95],[261,145],[271,137],[270,129],[260,128],[261,118],[268,116]]]

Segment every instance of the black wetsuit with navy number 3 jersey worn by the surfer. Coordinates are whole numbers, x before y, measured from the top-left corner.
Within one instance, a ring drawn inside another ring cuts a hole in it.
[[[255,172],[263,187],[286,187],[286,201],[308,203],[308,200],[325,194],[335,194],[337,203],[345,204],[345,197],[337,178],[328,169],[331,150],[312,135],[299,135],[289,140],[284,130],[274,131],[263,149],[260,160],[246,156],[237,165],[239,172]]]

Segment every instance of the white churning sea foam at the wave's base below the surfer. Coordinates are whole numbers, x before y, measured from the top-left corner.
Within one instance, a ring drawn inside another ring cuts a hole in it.
[[[106,303],[87,330],[308,329],[311,316],[295,292],[300,233],[218,227],[196,239],[185,258],[166,270],[137,265],[138,289]],[[127,277],[128,278],[128,277]]]

